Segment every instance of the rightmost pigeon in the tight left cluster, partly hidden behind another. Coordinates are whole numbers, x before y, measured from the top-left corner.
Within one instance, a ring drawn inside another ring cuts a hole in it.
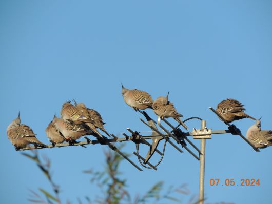
[[[88,117],[92,119],[91,123],[86,123],[86,125],[89,126],[92,131],[98,134],[101,138],[104,138],[96,129],[96,128],[99,128],[100,130],[105,132],[109,137],[111,137],[111,135],[105,130],[103,126],[105,123],[103,122],[103,119],[98,111],[87,108],[85,104],[82,102],[76,103],[76,101],[74,100],[74,104],[75,104],[75,107],[79,108],[83,112],[84,115],[87,115]]]

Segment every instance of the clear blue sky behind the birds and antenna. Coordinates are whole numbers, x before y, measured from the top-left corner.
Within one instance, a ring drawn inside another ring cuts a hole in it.
[[[208,107],[236,98],[249,115],[263,116],[262,129],[271,130],[271,11],[271,1],[1,1],[1,203],[28,203],[28,189],[49,189],[40,170],[7,138],[6,128],[19,110],[22,123],[46,143],[44,130],[53,113],[71,98],[98,110],[108,132],[148,130],[124,103],[121,82],[153,99],[170,91],[184,118],[199,116],[213,130],[226,126]],[[253,123],[235,124],[245,135]],[[76,197],[99,194],[82,171],[103,170],[103,149],[40,151],[52,159],[63,200],[76,203]],[[126,151],[133,152],[134,145]],[[272,147],[256,153],[238,136],[213,136],[206,142],[207,202],[272,203],[271,155]],[[157,172],[139,172],[128,162],[121,169],[132,195],[158,180],[188,183],[198,194],[198,161],[169,145]],[[260,178],[261,185],[210,187],[211,178]]]

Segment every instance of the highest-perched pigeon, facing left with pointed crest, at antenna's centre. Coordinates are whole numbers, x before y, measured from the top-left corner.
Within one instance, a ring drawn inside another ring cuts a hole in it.
[[[152,109],[153,99],[152,97],[145,91],[140,91],[137,89],[129,90],[122,85],[122,95],[123,99],[127,105],[132,107],[135,111],[141,109]]]

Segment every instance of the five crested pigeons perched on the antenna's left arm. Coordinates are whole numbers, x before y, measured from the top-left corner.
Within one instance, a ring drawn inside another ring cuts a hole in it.
[[[77,104],[74,100],[74,105],[71,104],[71,101],[63,104],[61,118],[54,115],[45,132],[53,146],[64,141],[72,145],[77,143],[76,139],[85,135],[105,139],[106,137],[98,129],[110,136],[105,130],[104,124],[99,112],[87,108],[83,103]],[[29,144],[33,144],[35,147],[47,148],[47,145],[35,137],[36,134],[29,126],[21,124],[20,113],[8,126],[7,134],[16,150],[25,148]]]

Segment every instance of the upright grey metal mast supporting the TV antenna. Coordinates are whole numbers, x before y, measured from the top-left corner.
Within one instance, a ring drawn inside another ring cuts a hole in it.
[[[201,129],[206,128],[206,120],[201,120]],[[206,139],[201,139],[200,171],[199,171],[199,204],[204,203],[204,175],[205,175],[205,146]]]

